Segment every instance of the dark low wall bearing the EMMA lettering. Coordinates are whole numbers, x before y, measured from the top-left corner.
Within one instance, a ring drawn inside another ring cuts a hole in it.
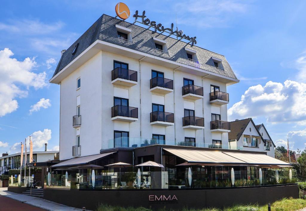
[[[298,198],[297,184],[200,190],[63,190],[44,189],[44,199],[71,207],[95,210],[99,204],[181,209],[258,203]],[[77,199],[77,200],[76,200]]]

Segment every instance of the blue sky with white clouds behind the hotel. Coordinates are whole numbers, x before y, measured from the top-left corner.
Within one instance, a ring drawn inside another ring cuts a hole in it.
[[[59,86],[49,84],[67,49],[115,1],[6,1],[0,8],[0,153],[59,145]],[[197,46],[225,55],[241,81],[228,86],[229,120],[253,117],[274,143],[306,143],[305,1],[125,1]]]

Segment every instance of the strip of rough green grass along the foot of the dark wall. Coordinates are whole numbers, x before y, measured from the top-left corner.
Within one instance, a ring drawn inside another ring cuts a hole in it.
[[[293,198],[284,198],[279,201],[275,201],[271,205],[271,211],[295,211],[301,208],[306,207],[306,200],[304,199],[293,199]],[[187,209],[183,208],[181,211],[267,211],[267,205],[258,206],[258,205],[236,205],[233,207],[228,207],[225,209],[216,209],[216,208],[204,208],[204,209]],[[152,209],[147,209],[144,207],[139,208],[123,208],[118,206],[108,206],[100,205],[96,211],[152,211]],[[170,211],[169,209],[159,209],[158,211]]]

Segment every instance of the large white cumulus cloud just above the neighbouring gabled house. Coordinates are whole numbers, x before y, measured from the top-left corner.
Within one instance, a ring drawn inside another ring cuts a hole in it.
[[[286,80],[251,86],[228,109],[229,119],[266,117],[268,122],[306,124],[306,83]]]

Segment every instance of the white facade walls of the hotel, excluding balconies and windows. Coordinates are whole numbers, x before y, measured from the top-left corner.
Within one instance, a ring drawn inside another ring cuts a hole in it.
[[[138,83],[135,86],[111,83],[114,60],[128,63],[130,70],[138,72]],[[161,71],[164,78],[174,80],[174,91],[165,95],[151,92],[151,70]],[[79,77],[81,87],[76,90]],[[186,101],[182,98],[184,78],[192,79],[195,86],[203,87],[203,99]],[[226,84],[223,82],[101,51],[61,82],[60,160],[72,158],[72,146],[76,145],[78,133],[81,156],[98,154],[101,148],[109,148],[109,140],[114,138],[114,130],[128,131],[129,137],[136,138],[150,139],[152,134],[160,134],[165,135],[166,140],[176,142],[184,141],[184,137],[195,137],[196,143],[211,144],[212,139],[216,139],[227,145],[227,133],[210,130],[211,113],[220,113],[221,120],[227,121],[227,106],[212,105],[209,102],[211,85],[220,86],[220,91],[226,92]],[[75,129],[72,126],[72,117],[76,115],[77,96],[80,96],[81,126]],[[129,106],[138,108],[138,121],[112,121],[114,97],[129,98]],[[150,125],[152,103],[163,104],[165,112],[174,113],[175,125]],[[204,117],[205,129],[183,129],[184,108],[194,109],[196,117]]]

